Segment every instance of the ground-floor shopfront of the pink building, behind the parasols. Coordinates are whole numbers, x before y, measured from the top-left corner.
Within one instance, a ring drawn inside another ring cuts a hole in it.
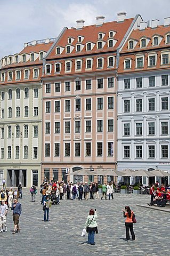
[[[42,182],[45,180],[55,180],[65,182],[98,182],[100,184],[107,181],[115,181],[114,177],[104,177],[103,175],[96,176],[86,176],[86,175],[66,175],[68,173],[87,168],[88,170],[98,172],[98,170],[106,170],[106,169],[115,169],[115,163],[99,163],[99,164],[89,164],[89,163],[42,163],[42,172],[41,172],[41,180]]]

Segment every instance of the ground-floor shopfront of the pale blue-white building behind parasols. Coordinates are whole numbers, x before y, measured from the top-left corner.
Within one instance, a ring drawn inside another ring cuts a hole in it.
[[[155,169],[160,169],[162,171],[170,173],[170,162],[118,162],[117,163],[118,171],[122,171],[125,169],[132,170],[146,170],[153,171]],[[164,183],[165,185],[170,184],[170,177],[118,177],[118,182],[124,182],[127,185],[133,185],[135,182],[142,183],[143,186],[150,186],[156,181],[159,184]]]

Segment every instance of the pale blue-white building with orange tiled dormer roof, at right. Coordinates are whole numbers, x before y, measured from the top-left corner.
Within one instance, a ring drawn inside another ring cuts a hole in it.
[[[120,53],[118,170],[169,171],[169,22],[141,22]],[[142,178],[143,185],[155,181]],[[168,178],[164,182],[169,183]]]

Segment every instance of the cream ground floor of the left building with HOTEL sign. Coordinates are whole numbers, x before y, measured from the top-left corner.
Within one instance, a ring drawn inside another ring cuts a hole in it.
[[[23,187],[35,185],[39,187],[41,183],[41,165],[0,165],[0,186],[2,179],[6,180],[6,187],[17,187],[19,182]]]

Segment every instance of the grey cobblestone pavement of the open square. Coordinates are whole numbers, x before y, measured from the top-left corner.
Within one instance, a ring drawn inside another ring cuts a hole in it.
[[[170,255],[169,213],[145,209],[136,204],[150,201],[149,195],[114,194],[114,200],[70,201],[52,205],[50,222],[43,221],[41,194],[30,202],[28,189],[23,189],[21,232],[12,234],[12,211],[7,215],[7,233],[0,233],[0,256],[11,255]],[[132,207],[137,223],[134,225],[136,241],[125,241],[125,219],[122,209]],[[81,237],[88,211],[98,212],[96,245],[87,244]],[[17,249],[16,249],[17,248]],[[16,249],[16,250],[15,250]]]

